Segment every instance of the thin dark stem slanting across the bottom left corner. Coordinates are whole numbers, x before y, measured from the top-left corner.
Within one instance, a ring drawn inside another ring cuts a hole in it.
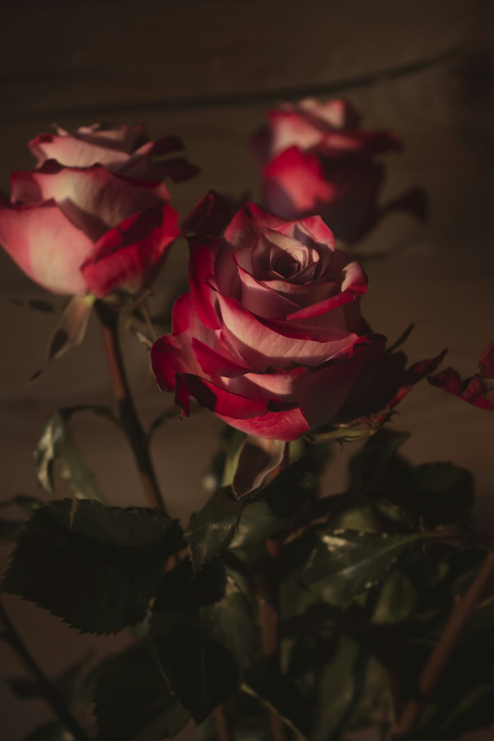
[[[6,628],[8,643],[13,648],[13,650],[16,651],[16,654],[18,655],[24,666],[27,668],[27,670],[30,671],[30,673],[33,674],[34,677],[36,677],[39,691],[43,695],[44,699],[48,702],[48,704],[51,705],[51,708],[53,708],[53,711],[56,714],[56,717],[59,718],[61,724],[64,725],[65,728],[67,728],[67,731],[70,731],[76,741],[90,741],[87,733],[83,730],[83,728],[81,728],[79,723],[70,713],[59,692],[52,685],[49,679],[45,677],[43,671],[41,671],[39,666],[36,664],[36,661],[33,659],[24,641],[21,639],[19,633],[16,631],[13,622],[7,615],[4,605],[1,602],[0,619]]]

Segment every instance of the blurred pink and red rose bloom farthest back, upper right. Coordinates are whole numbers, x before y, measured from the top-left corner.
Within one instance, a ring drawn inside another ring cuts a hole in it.
[[[347,101],[306,99],[268,113],[253,139],[267,207],[287,219],[318,213],[338,239],[356,242],[390,210],[427,216],[427,199],[413,188],[379,207],[385,169],[375,157],[401,150],[390,131],[362,129]]]

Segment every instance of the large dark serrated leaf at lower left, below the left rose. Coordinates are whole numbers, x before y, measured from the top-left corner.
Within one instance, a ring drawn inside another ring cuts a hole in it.
[[[146,616],[181,535],[155,510],[52,502],[26,523],[0,589],[83,632],[116,633]]]

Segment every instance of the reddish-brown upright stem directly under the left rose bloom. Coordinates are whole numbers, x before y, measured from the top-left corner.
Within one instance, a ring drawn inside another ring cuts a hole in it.
[[[150,507],[159,508],[167,514],[151,460],[147,436],[138,418],[125,373],[119,342],[119,314],[102,301],[96,302],[96,310],[101,320],[104,353],[119,405],[121,424],[134,453],[144,494]]]

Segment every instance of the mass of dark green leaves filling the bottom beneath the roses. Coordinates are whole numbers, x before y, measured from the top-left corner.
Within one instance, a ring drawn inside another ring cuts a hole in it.
[[[156,741],[191,719],[207,737],[220,703],[259,739],[266,708],[311,741],[391,728],[484,554],[465,526],[470,473],[411,466],[399,455],[405,439],[371,437],[350,462],[348,490],[327,499],[318,499],[327,449],[307,444],[258,493],[238,502],[219,488],[185,531],[157,511],[94,499],[37,507],[1,590],[79,631],[133,633],[86,679],[101,740]],[[273,539],[280,668],[263,657],[258,610]],[[455,738],[494,721],[493,613],[487,600],[418,737]],[[39,739],[64,738],[58,725],[45,728]]]

